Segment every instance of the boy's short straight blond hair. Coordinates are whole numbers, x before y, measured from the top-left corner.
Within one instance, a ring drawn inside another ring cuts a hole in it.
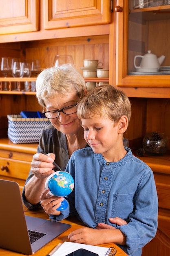
[[[77,116],[80,119],[99,115],[112,120],[115,125],[123,115],[131,116],[131,104],[127,95],[112,85],[97,86],[77,104]]]

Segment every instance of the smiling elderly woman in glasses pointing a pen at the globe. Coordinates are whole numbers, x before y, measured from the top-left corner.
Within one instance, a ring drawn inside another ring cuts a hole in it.
[[[40,206],[46,178],[57,171],[53,162],[64,171],[75,150],[89,147],[76,112],[77,102],[86,94],[84,78],[73,66],[50,67],[39,74],[36,96],[51,125],[42,130],[38,150],[33,156],[22,191],[22,200],[27,208]],[[127,146],[127,139],[124,145]]]

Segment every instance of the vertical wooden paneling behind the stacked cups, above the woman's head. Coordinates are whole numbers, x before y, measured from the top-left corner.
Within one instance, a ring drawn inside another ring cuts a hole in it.
[[[26,43],[26,58],[40,58],[42,67],[53,65],[54,56],[73,55],[75,66],[83,67],[83,59],[97,58],[104,63],[104,68],[108,68],[109,62],[109,43],[108,35],[92,36],[82,38],[65,38],[51,39]],[[81,74],[82,70],[79,70]]]

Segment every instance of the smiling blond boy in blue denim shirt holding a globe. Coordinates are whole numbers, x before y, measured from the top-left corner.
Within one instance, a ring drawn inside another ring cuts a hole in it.
[[[140,256],[157,231],[158,199],[150,167],[123,145],[130,101],[111,85],[99,86],[78,103],[77,115],[90,148],[75,151],[66,167],[75,180],[69,207],[56,211],[63,198],[47,197],[49,189],[40,197],[42,206],[53,220],[77,216],[88,226],[69,234],[71,242],[113,242]],[[115,217],[122,221],[115,224]]]

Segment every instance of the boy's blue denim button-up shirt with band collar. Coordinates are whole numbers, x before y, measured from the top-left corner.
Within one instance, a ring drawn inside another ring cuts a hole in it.
[[[50,218],[60,221],[77,216],[92,228],[99,222],[109,224],[126,236],[126,246],[119,247],[128,255],[140,256],[141,248],[157,231],[158,198],[150,167],[125,149],[127,154],[118,162],[106,162],[91,148],[75,151],[66,167],[75,180],[75,188],[67,196],[69,207]],[[110,223],[109,218],[116,216],[128,224]]]

